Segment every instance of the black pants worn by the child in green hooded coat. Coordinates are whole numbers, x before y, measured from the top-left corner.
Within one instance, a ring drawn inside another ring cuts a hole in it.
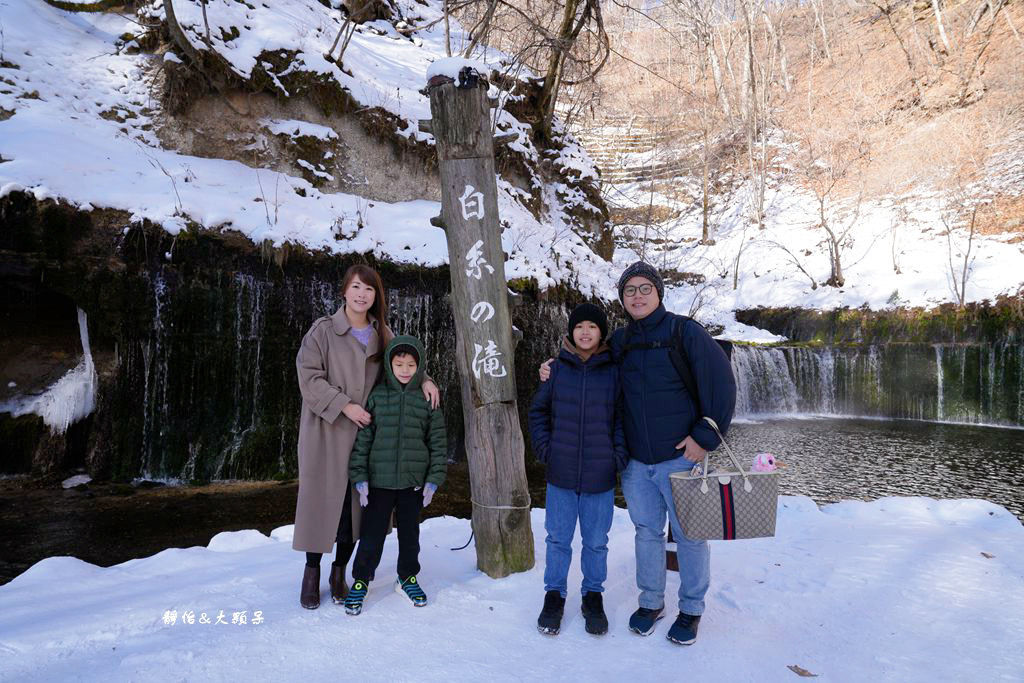
[[[420,510],[423,490],[416,488],[371,488],[362,511],[359,548],[352,562],[352,579],[370,581],[384,552],[388,520],[394,510],[398,526],[398,578],[420,573]]]

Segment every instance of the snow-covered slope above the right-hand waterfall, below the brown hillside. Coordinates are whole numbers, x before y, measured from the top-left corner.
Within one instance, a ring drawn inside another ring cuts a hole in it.
[[[658,243],[649,244],[646,257],[663,267],[698,273],[703,282],[673,288],[668,295],[670,305],[683,312],[699,311],[699,317],[725,325],[727,332],[733,330],[745,339],[770,340],[752,337],[752,331],[737,327],[733,310],[757,306],[930,308],[955,301],[969,244],[967,302],[1014,296],[1024,285],[1024,242],[1019,233],[975,234],[970,242],[968,230],[958,226],[947,240],[942,200],[916,194],[865,200],[859,206],[838,202],[828,209],[838,229],[852,228],[842,241],[846,283],[826,286],[829,261],[816,199],[784,177],[778,180],[766,195],[764,229],[751,223],[751,187],[744,183],[730,201],[716,208],[714,244],[699,243],[699,204],[656,191],[652,197],[649,185],[642,183],[616,186],[610,200],[623,207],[642,209],[653,203],[679,212],[677,218],[648,228],[650,241]],[[679,179],[680,184],[686,182],[686,178]],[[642,236],[643,227],[632,231]],[[633,260],[638,251],[621,249],[615,260]]]

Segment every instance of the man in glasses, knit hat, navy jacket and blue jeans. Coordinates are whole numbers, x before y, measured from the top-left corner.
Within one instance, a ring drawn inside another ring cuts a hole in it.
[[[611,352],[620,364],[630,462],[623,472],[623,495],[636,527],[639,608],[630,629],[646,636],[665,611],[665,520],[668,515],[679,559],[679,615],[669,630],[673,642],[696,640],[711,579],[711,553],[705,541],[683,535],[672,502],[671,472],[689,470],[719,445],[701,416],[723,433],[732,421],[736,383],[725,352],[697,323],[665,309],[665,286],[657,270],[637,261],[618,279],[618,298],[632,321],[612,333]],[[670,348],[681,333],[697,385],[697,405],[672,364]]]

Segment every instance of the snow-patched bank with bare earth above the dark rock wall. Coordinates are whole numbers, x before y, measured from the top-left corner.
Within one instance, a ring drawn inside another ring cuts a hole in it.
[[[325,54],[341,14],[316,0],[171,6],[121,16],[0,0],[0,196],[120,209],[172,234],[195,222],[257,244],[447,261],[429,224],[433,140],[418,129],[443,30],[396,28],[437,19],[437,0],[396,2],[394,25],[357,25],[340,62]],[[555,147],[535,144],[532,86],[488,54],[481,69],[502,86],[489,93],[494,129],[516,135],[497,154],[506,272],[608,297],[596,169],[564,131]]]

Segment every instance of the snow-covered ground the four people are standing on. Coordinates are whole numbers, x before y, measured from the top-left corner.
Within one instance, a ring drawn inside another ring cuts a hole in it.
[[[468,521],[424,522],[422,609],[391,590],[389,538],[358,616],[331,604],[326,571],[321,608],[299,606],[291,526],[110,568],[48,558],[0,587],[0,680],[798,680],[791,667],[833,681],[1024,679],[1024,527],[990,503],[783,497],[774,539],[713,545],[708,609],[685,648],[665,639],[673,574],[670,617],[648,638],[627,631],[625,510],[609,542],[609,633],[584,632],[572,589],[562,633],[540,635],[543,521],[535,510],[537,566],[497,581],[472,549],[450,550]]]

